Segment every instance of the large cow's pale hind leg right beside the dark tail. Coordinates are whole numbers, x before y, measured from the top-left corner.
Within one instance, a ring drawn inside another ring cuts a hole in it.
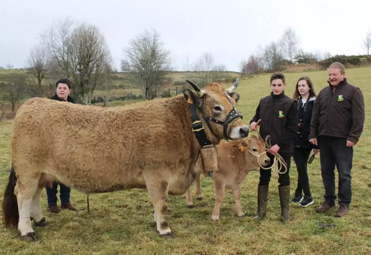
[[[28,179],[27,181],[19,179],[14,188],[19,210],[18,229],[21,237],[27,241],[36,241],[36,235],[31,226],[30,210],[38,183],[38,179]]]

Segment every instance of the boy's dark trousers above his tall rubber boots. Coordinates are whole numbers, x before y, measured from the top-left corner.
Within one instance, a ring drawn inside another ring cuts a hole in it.
[[[271,163],[267,167],[271,167],[273,164],[274,156],[267,152],[268,157],[271,159]],[[282,155],[282,158],[284,158],[284,161],[287,164],[287,171],[284,174],[279,173],[278,174],[278,183],[280,183],[280,187],[288,186],[290,185],[290,163],[291,163],[291,155]],[[276,163],[277,167],[280,168],[281,164],[279,162]],[[274,168],[272,168],[274,169]],[[270,170],[264,170],[260,168],[260,178],[259,178],[259,185],[266,186],[269,185],[269,181],[271,180],[272,176],[272,169]],[[281,172],[285,170],[285,167],[282,167],[280,170]]]

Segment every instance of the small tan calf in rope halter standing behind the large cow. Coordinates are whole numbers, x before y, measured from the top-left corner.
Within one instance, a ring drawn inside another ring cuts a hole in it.
[[[215,185],[215,207],[212,219],[219,220],[220,205],[224,199],[224,189],[231,189],[235,199],[235,210],[238,217],[245,214],[241,206],[241,186],[246,175],[251,170],[257,170],[261,166],[270,163],[265,150],[265,144],[256,136],[244,141],[232,141],[221,143],[217,146],[219,155],[219,170],[213,172]],[[199,159],[196,163],[196,194],[201,199],[201,174],[202,162]],[[186,203],[193,207],[192,195],[189,188],[186,191]]]

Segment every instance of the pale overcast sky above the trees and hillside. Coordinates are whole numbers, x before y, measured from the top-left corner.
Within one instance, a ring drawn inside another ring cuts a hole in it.
[[[305,51],[365,54],[370,10],[370,0],[1,0],[0,66],[24,67],[40,32],[67,16],[100,29],[116,68],[129,40],[153,28],[176,70],[187,55],[195,62],[210,52],[215,64],[239,71],[241,60],[288,27]]]

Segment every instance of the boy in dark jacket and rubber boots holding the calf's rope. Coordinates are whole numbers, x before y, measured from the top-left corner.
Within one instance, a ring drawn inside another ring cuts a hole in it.
[[[274,73],[271,76],[271,94],[260,99],[256,108],[255,116],[250,121],[251,130],[256,130],[256,122],[261,119],[259,133],[265,138],[270,135],[272,147],[268,150],[267,155],[271,163],[277,153],[285,160],[287,171],[279,173],[278,186],[282,220],[289,220],[290,204],[290,162],[294,153],[294,141],[297,133],[297,102],[287,95],[285,76],[282,73]],[[280,164],[278,164],[280,168]],[[284,170],[284,168],[282,169]],[[258,186],[258,213],[255,219],[262,219],[267,213],[268,187],[271,179],[271,170],[260,168],[260,181]]]

